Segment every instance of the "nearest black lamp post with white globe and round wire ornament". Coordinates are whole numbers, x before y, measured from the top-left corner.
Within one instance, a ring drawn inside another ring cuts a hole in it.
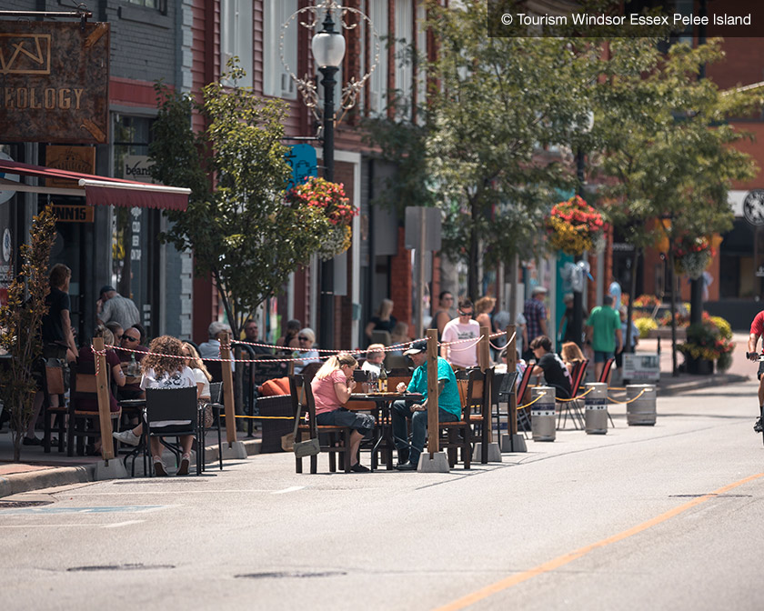
[[[316,32],[320,15],[324,15],[320,23],[321,30]],[[348,24],[346,17],[356,17],[356,22]],[[335,21],[337,16],[337,21]],[[306,18],[308,17],[308,18]],[[313,60],[321,73],[321,85],[324,86],[324,110],[318,113],[318,93],[316,79],[306,75],[298,78],[292,72],[284,57],[284,36],[292,23],[296,26],[314,30],[310,41]],[[342,87],[339,105],[343,110],[348,110],[356,104],[357,95],[366,85],[369,76],[377,67],[379,60],[379,37],[374,30],[374,25],[367,15],[350,6],[337,4],[337,0],[323,0],[314,6],[306,6],[291,15],[281,28],[281,42],[279,45],[281,62],[286,67],[289,76],[295,81],[297,90],[302,95],[303,102],[311,109],[313,115],[320,121],[323,136],[324,155],[324,178],[334,182],[334,130],[338,123],[335,109],[335,85],[337,85],[337,72],[345,58],[345,36],[341,30],[353,30],[358,25],[365,25],[370,33],[369,39],[372,48],[372,63],[365,75],[356,78],[352,76],[346,85]],[[338,27],[340,31],[336,31]],[[334,261],[329,259],[321,263],[321,298],[320,298],[320,321],[318,326],[318,343],[322,348],[331,348],[334,344]]]

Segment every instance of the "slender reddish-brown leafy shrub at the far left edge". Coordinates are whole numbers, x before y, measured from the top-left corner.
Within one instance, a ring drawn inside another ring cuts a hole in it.
[[[36,215],[29,244],[21,245],[21,274],[8,287],[8,302],[0,307],[0,346],[12,356],[0,368],[0,398],[11,414],[14,461],[21,458],[21,440],[33,414],[37,385],[35,360],[42,353],[40,327],[48,310],[48,262],[55,239],[55,216],[50,206]]]

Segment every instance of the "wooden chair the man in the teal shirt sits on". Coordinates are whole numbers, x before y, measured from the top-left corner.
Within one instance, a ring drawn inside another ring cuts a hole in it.
[[[457,422],[441,422],[441,447],[447,450],[448,464],[457,463],[457,449],[461,448],[464,468],[472,460],[472,444],[482,442],[481,462],[488,463],[488,408],[490,406],[490,376],[493,370],[483,373],[477,368],[458,371],[457,387],[462,404],[462,417]]]

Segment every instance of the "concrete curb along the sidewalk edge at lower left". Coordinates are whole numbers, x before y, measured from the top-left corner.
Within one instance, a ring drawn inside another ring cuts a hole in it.
[[[246,448],[246,456],[260,454],[262,440],[247,439],[242,442]],[[226,460],[226,440],[223,440],[224,456]],[[205,447],[205,464],[217,462],[217,445]],[[71,486],[73,484],[86,484],[95,481],[95,463],[83,466],[52,466],[38,471],[15,473],[9,476],[0,476],[0,498],[17,495],[22,492],[31,492],[43,488],[57,486]]]

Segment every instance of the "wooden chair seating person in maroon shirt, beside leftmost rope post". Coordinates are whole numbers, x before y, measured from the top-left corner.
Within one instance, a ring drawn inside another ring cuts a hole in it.
[[[69,398],[69,426],[67,427],[66,434],[66,454],[67,456],[74,456],[75,439],[77,443],[77,455],[83,456],[85,454],[85,444],[83,443],[87,437],[101,436],[101,443],[109,443],[108,439],[100,433],[100,422],[97,411],[92,409],[82,409],[81,401],[89,400],[95,401],[97,405],[98,393],[97,393],[97,381],[95,378],[95,363],[71,363],[69,365],[72,371],[71,388]],[[106,380],[111,378],[111,372],[106,370]],[[109,386],[107,384],[107,386]],[[92,405],[92,404],[91,404]],[[116,412],[110,412],[112,419],[112,428],[118,430],[119,418],[122,416],[122,410]],[[116,456],[116,439],[111,440],[115,444],[115,456]]]

